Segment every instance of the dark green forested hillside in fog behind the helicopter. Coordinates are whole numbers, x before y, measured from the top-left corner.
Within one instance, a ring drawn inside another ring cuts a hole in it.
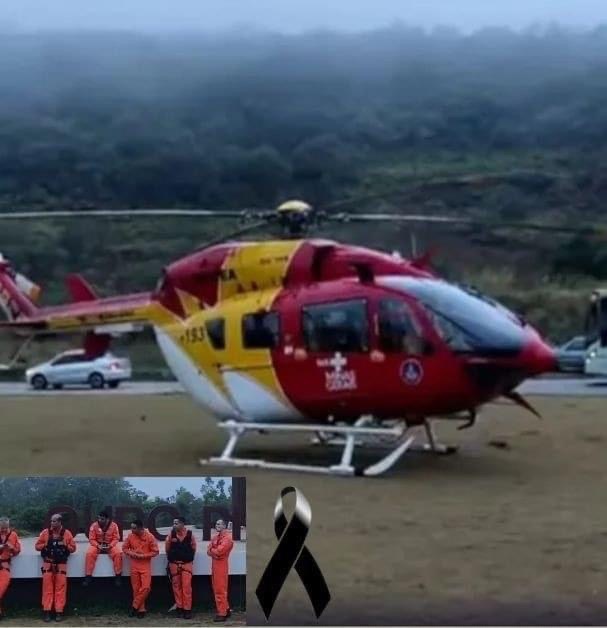
[[[481,187],[420,187],[352,209],[604,220],[607,27],[464,36],[377,32],[5,34],[0,211],[322,204],[431,175],[510,172]],[[522,174],[520,174],[522,172]],[[103,291],[153,287],[161,266],[228,224],[185,219],[0,223],[0,250],[64,298],[83,271]],[[410,252],[410,231],[323,234]],[[577,331],[607,275],[604,242],[416,229],[437,268],[553,339]]]

